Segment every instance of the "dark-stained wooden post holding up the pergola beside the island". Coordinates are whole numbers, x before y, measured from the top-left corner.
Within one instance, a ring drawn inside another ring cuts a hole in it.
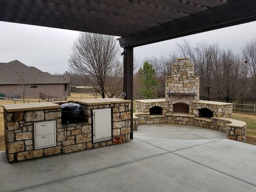
[[[130,139],[133,139],[133,47],[124,48],[124,92],[125,99],[132,101]]]

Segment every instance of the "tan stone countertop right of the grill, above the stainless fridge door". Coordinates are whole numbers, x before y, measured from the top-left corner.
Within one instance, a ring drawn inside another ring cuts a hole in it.
[[[106,98],[106,99],[75,100],[74,102],[82,105],[107,105],[107,104],[113,104],[113,103],[130,103],[131,100]]]

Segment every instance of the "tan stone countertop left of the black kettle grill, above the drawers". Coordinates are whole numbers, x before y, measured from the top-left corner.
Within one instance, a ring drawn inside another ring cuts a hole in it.
[[[6,112],[22,112],[30,110],[45,110],[45,109],[58,109],[60,105],[51,102],[42,103],[22,103],[22,104],[11,104],[3,105]]]

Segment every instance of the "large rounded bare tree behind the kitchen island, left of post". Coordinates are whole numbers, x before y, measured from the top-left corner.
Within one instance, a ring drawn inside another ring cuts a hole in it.
[[[120,53],[122,50],[114,36],[80,32],[72,47],[69,67],[71,71],[83,75],[101,97],[105,98],[110,91],[107,87],[115,86],[113,78],[120,77],[120,67],[117,66]]]

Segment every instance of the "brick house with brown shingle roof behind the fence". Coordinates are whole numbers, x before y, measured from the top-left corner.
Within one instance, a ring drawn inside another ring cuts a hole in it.
[[[0,63],[0,93],[5,97],[40,98],[40,93],[50,97],[70,96],[69,73],[63,77],[51,75],[35,67],[29,67],[18,60]]]

